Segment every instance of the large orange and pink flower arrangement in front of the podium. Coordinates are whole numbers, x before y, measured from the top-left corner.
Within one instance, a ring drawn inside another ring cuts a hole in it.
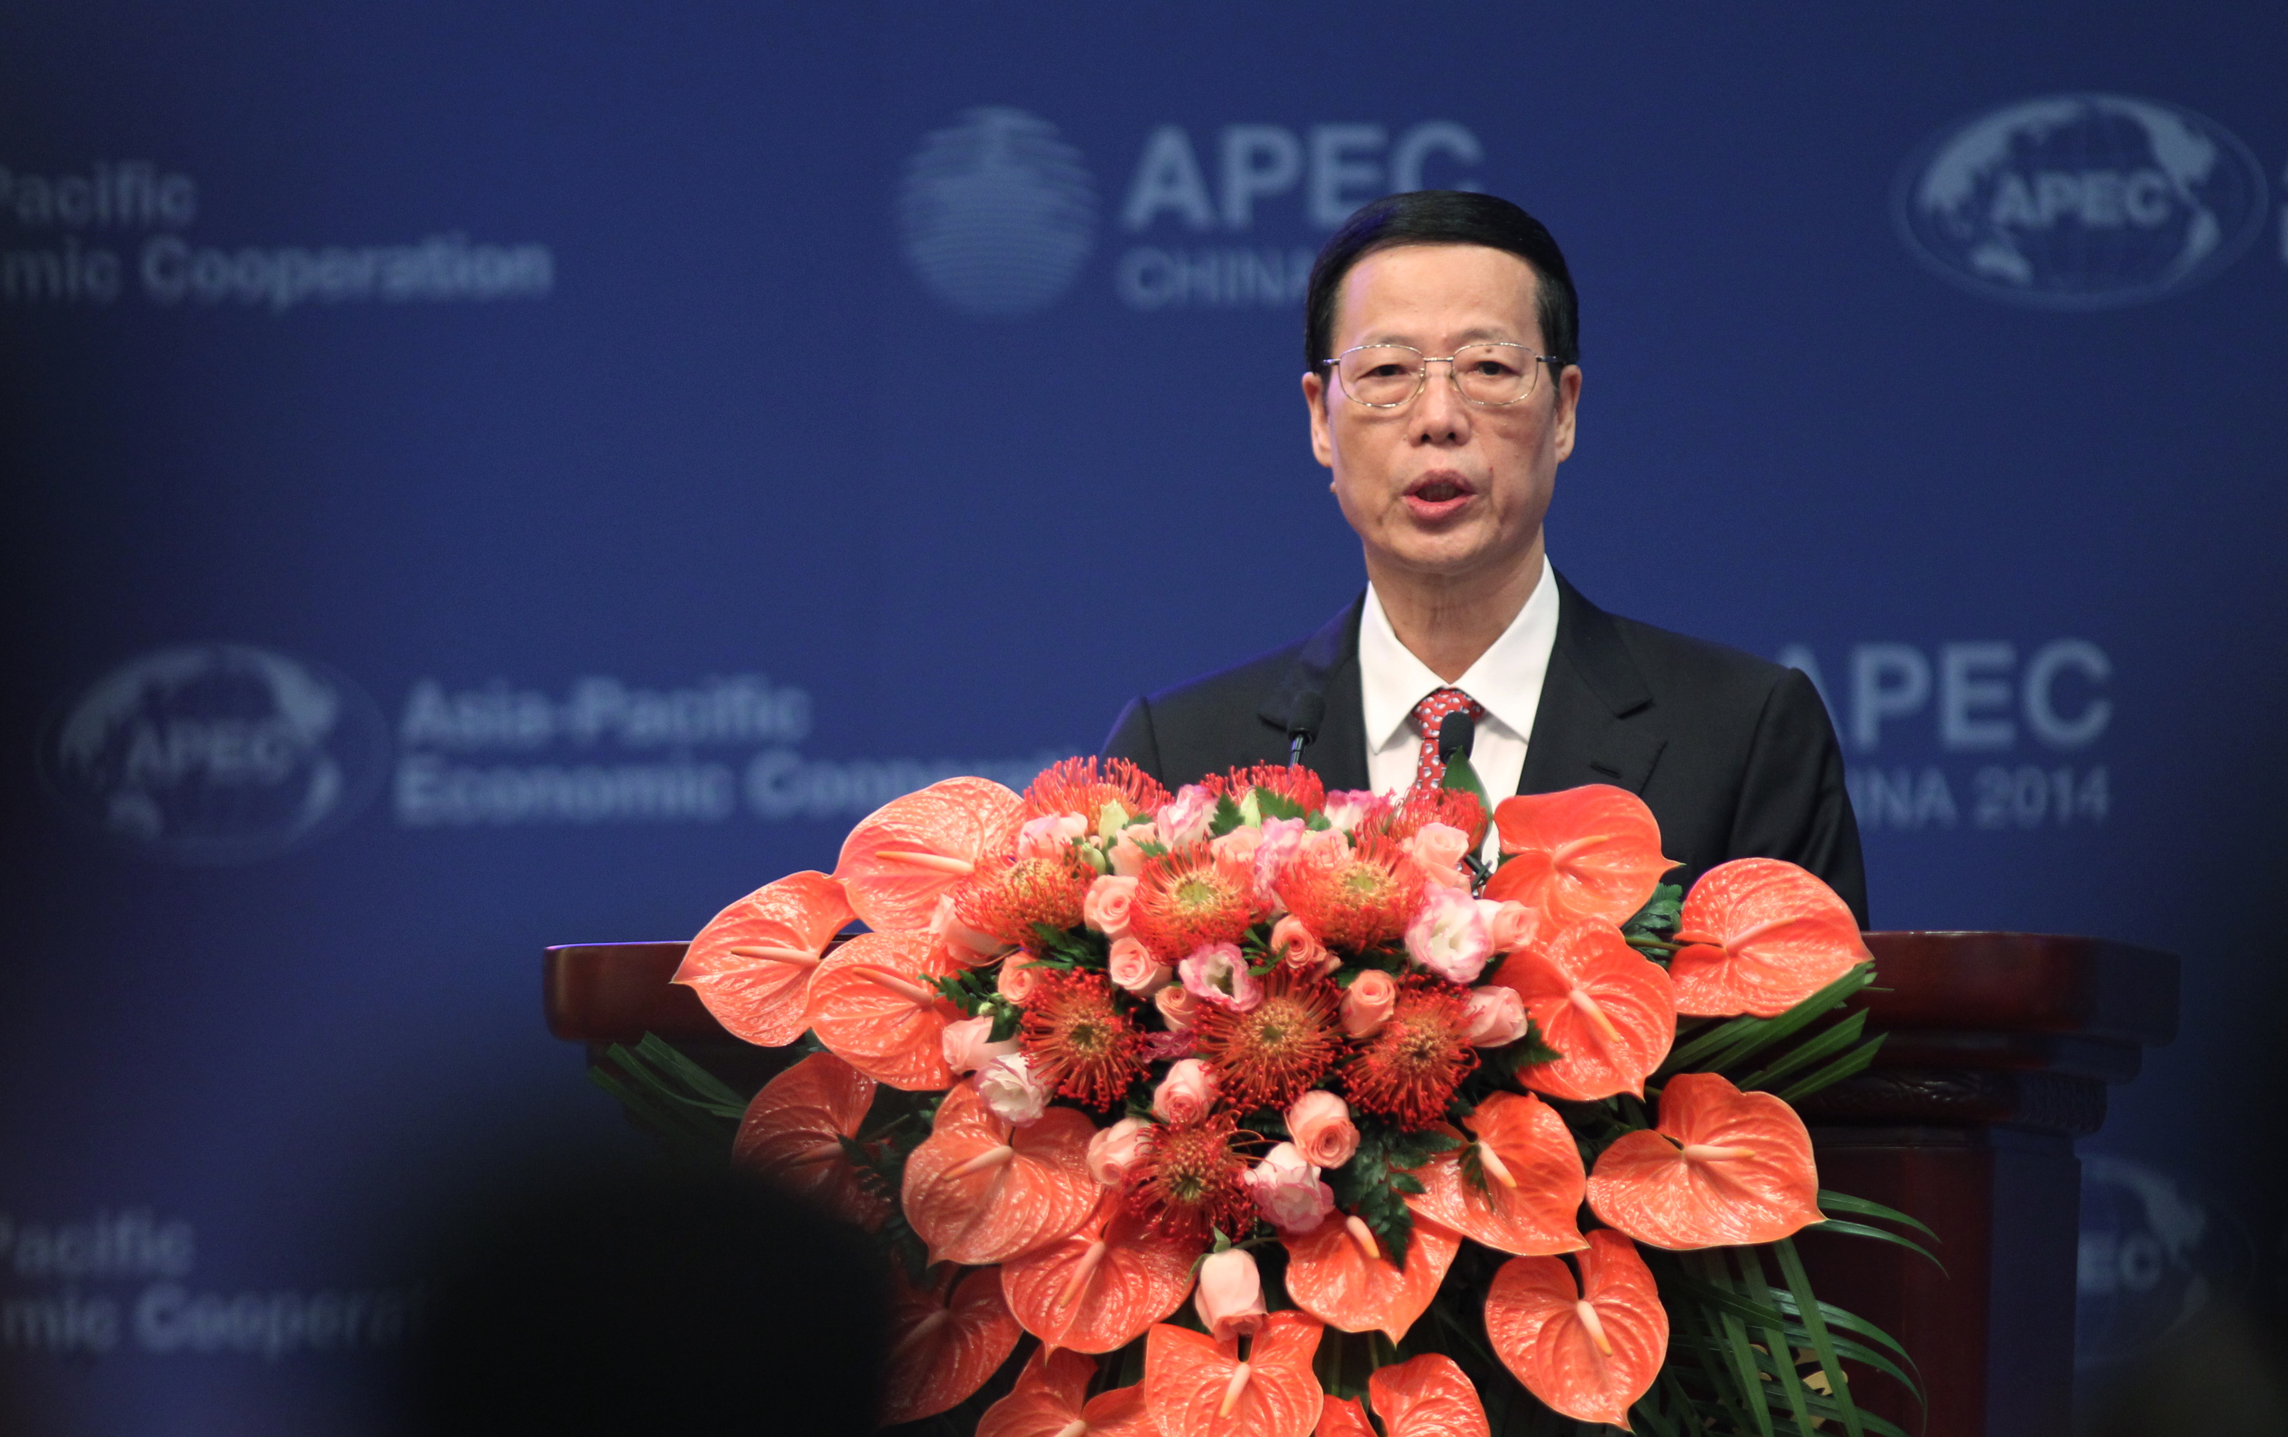
[[[750,1103],[657,1039],[615,1050],[652,1091],[602,1080],[879,1236],[885,1426],[1897,1432],[1842,1359],[1906,1355],[1789,1243],[1917,1226],[1824,1192],[1789,1105],[1878,1041],[1835,1016],[1858,924],[1789,863],[1673,867],[1634,794],[1489,810],[1467,760],[950,778],[691,945],[730,1032],[808,1055]]]

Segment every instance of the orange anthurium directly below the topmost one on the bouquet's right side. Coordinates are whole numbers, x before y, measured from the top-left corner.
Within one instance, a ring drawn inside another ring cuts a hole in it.
[[[1565,1055],[1517,1069],[1519,1082],[1554,1098],[1645,1096],[1645,1075],[1677,1037],[1668,975],[1602,920],[1512,952],[1492,982],[1517,989],[1542,1041]]]

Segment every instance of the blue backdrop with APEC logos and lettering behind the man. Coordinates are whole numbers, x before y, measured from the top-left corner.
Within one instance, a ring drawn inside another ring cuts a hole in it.
[[[2084,1357],[2279,1263],[2288,18],[18,5],[0,1380],[364,1432],[412,1213],[611,1142],[545,943],[1023,783],[1361,583],[1309,254],[1508,194],[1549,545],[1814,673],[1878,927],[2185,954]]]

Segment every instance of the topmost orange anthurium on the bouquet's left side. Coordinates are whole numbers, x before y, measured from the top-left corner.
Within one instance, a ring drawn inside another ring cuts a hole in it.
[[[865,927],[927,929],[938,897],[1014,844],[1023,821],[1025,801],[991,778],[945,778],[858,819],[835,879]]]

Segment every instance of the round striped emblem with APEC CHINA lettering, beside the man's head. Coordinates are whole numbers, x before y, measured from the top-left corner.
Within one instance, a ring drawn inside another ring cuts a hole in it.
[[[1400,190],[1476,190],[1478,137],[1412,126],[1153,126],[1121,192],[1133,245],[1112,293],[1137,311],[1281,309],[1302,300],[1318,243],[1354,208]],[[1004,105],[922,137],[899,188],[906,263],[972,316],[1036,313],[1096,247],[1096,183],[1057,126]]]

